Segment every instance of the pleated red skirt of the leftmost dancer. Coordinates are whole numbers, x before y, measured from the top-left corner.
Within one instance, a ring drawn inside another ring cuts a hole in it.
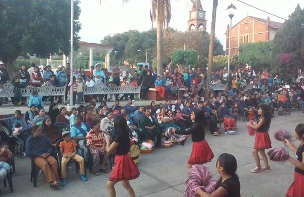
[[[136,179],[139,171],[129,153],[115,155],[115,166],[112,169],[109,181],[122,181]]]

